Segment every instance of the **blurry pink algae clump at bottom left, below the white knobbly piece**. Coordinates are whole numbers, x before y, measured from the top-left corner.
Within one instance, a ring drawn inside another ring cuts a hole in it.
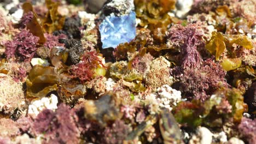
[[[38,134],[45,133],[46,143],[78,143],[80,131],[75,124],[78,117],[74,110],[61,104],[56,112],[44,110],[33,123],[33,130]]]

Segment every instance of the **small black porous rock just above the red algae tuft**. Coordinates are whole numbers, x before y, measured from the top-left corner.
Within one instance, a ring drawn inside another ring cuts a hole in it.
[[[69,39],[65,43],[67,49],[69,49],[68,64],[77,64],[80,61],[80,56],[84,53],[83,45],[80,40]]]

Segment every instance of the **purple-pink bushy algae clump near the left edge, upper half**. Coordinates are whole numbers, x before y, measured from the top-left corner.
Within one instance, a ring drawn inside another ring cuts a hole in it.
[[[23,29],[19,34],[15,35],[13,40],[8,40],[4,43],[6,47],[5,55],[9,59],[14,58],[16,53],[21,61],[30,61],[36,54],[38,40],[38,37]]]

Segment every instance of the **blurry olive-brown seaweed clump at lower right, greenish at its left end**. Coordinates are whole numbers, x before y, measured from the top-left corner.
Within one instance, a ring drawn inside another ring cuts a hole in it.
[[[247,105],[238,89],[221,89],[201,103],[199,100],[181,101],[174,111],[179,123],[189,127],[208,125],[222,127],[225,122],[240,123]]]

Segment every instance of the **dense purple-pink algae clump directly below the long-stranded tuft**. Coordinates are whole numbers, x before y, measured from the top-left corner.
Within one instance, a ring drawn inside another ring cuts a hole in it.
[[[184,69],[179,89],[189,97],[194,95],[195,99],[205,101],[218,88],[229,86],[225,75],[226,72],[219,64],[208,59],[202,63],[201,68]]]

